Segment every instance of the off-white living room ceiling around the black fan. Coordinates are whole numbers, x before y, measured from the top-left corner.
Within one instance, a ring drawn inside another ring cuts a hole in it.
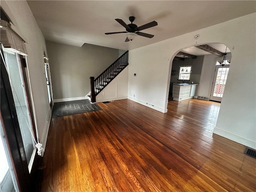
[[[256,12],[254,0],[27,2],[46,40],[74,46],[88,43],[122,50],[132,50]],[[151,39],[138,36],[132,42],[124,42],[125,34],[104,34],[125,31],[114,19],[119,18],[129,24],[129,16],[135,16],[134,24],[137,26],[156,20],[158,26],[141,31],[155,36]],[[196,52],[196,55],[207,54],[199,49]]]

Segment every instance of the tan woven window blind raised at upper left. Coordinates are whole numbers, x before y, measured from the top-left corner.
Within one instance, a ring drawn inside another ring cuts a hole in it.
[[[1,19],[0,41],[4,48],[16,50],[19,54],[27,55],[25,41],[12,30],[10,24]]]

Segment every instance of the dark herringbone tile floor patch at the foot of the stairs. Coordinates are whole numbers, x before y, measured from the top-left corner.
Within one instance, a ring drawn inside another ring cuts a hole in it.
[[[54,103],[52,118],[102,110],[88,99]]]

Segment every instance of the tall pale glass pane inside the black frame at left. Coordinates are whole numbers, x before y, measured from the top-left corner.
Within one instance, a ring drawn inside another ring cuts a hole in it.
[[[19,55],[8,50],[4,50],[5,64],[8,71],[14,104],[22,134],[22,142],[24,145],[26,161],[29,164],[34,150],[34,141],[32,138],[32,120],[30,116],[30,108],[28,106],[28,98],[26,95],[26,86],[24,82],[23,72]]]

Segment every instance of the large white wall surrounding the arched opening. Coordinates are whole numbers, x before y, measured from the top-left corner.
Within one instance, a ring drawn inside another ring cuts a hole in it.
[[[232,65],[214,133],[256,148],[255,22],[253,13],[131,50],[128,98],[166,112],[172,60],[177,52],[196,44],[225,44],[231,49]],[[200,34],[198,40],[194,40],[196,34]]]

